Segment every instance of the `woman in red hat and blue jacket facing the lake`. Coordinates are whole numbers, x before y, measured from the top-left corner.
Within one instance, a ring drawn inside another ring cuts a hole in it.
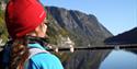
[[[12,44],[5,56],[9,69],[64,69],[59,59],[46,51],[46,12],[37,0],[10,0],[5,24]],[[10,55],[8,55],[10,54]]]

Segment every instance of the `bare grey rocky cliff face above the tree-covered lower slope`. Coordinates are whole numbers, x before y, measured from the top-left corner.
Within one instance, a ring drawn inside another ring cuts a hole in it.
[[[106,37],[112,36],[92,14],[56,7],[49,7],[48,12],[59,28],[66,30],[76,46],[100,45]]]

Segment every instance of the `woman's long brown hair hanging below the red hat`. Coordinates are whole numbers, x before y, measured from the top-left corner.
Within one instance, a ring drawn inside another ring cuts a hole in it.
[[[9,69],[24,69],[24,62],[28,57],[27,38],[14,39],[10,57]]]

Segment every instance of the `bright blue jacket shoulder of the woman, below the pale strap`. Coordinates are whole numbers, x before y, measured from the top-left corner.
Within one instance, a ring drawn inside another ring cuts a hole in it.
[[[60,60],[53,54],[42,53],[31,57],[31,62],[36,67],[47,68],[47,69],[64,69]]]

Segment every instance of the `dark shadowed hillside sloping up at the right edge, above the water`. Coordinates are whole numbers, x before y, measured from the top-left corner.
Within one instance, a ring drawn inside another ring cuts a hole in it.
[[[137,44],[137,27],[105,39],[106,44]]]

